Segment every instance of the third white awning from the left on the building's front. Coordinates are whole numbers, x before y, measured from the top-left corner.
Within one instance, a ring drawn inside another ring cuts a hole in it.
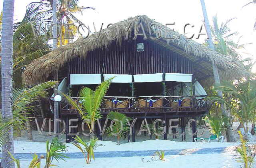
[[[163,74],[139,74],[134,75],[134,82],[162,82]]]

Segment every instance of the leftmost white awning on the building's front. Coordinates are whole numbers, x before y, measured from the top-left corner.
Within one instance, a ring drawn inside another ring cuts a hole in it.
[[[101,74],[70,74],[70,84],[100,84]]]

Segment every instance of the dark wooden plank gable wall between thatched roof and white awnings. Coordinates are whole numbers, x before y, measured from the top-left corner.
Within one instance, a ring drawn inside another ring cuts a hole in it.
[[[136,51],[140,42],[144,52]],[[70,62],[70,74],[192,73],[192,69],[190,60],[148,40],[124,40],[122,46],[113,42]]]

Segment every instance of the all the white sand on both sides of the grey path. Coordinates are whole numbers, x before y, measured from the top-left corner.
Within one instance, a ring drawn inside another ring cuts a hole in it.
[[[238,126],[234,123],[233,129]],[[237,136],[237,135],[236,135]],[[255,142],[256,135],[250,138],[250,142]],[[239,142],[175,142],[170,140],[147,140],[135,143],[124,143],[120,146],[116,142],[99,141],[99,146],[96,152],[105,151],[138,151],[138,150],[176,150],[176,149],[200,149],[200,148],[219,148],[228,146],[238,146]],[[80,152],[74,145],[67,144],[68,152]],[[28,142],[28,141],[14,141],[15,153],[45,153],[46,142]],[[221,154],[186,154],[186,155],[173,155],[165,156],[166,161],[152,161],[151,156],[136,156],[136,157],[116,157],[116,158],[96,158],[89,165],[85,164],[84,159],[67,159],[67,162],[59,161],[56,164],[61,168],[118,168],[118,167],[178,167],[178,168],[198,168],[198,167],[224,167],[224,168],[237,168],[241,163],[236,162],[235,152],[225,152]],[[144,160],[144,162],[142,162]],[[148,162],[147,162],[148,161]],[[31,159],[20,160],[21,167],[28,167]],[[42,160],[42,166],[45,160]]]

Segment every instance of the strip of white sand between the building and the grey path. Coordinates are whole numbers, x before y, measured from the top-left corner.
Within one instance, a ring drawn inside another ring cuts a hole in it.
[[[136,150],[172,150],[172,149],[198,149],[237,146],[239,143],[227,142],[175,142],[170,140],[147,140],[116,145],[116,142],[99,141],[95,152],[105,151],[136,151]],[[80,152],[73,144],[67,144],[68,152]],[[46,142],[14,141],[15,153],[45,153]]]

